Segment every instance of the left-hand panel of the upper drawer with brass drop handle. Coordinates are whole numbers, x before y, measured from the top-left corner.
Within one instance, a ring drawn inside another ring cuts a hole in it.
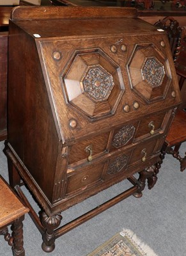
[[[93,157],[97,157],[101,153],[103,154],[107,149],[108,140],[109,132],[105,132],[87,140],[77,141],[70,149],[68,164],[77,163],[78,161],[86,159],[89,154]],[[92,152],[90,152],[90,150],[92,150]]]

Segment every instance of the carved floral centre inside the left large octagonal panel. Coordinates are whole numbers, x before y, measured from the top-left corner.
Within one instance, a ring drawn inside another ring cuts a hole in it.
[[[82,78],[84,92],[88,93],[93,100],[107,99],[114,86],[114,81],[103,67],[100,65],[89,67]]]

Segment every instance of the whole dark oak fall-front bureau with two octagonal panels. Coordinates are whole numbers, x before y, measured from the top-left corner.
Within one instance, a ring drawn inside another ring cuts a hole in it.
[[[55,239],[157,181],[180,92],[164,31],[133,8],[17,7],[9,26],[10,184],[51,252]],[[139,173],[139,179],[134,177]],[[63,225],[61,212],[132,187]],[[33,210],[26,184],[42,208]],[[101,194],[100,194],[101,195]]]

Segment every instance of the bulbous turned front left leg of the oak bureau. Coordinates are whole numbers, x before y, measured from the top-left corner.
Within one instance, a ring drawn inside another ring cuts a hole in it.
[[[52,252],[55,248],[56,237],[54,230],[59,227],[62,220],[61,214],[54,216],[47,216],[45,212],[41,214],[41,221],[43,227],[45,227],[45,233],[43,234],[42,249],[44,252]]]

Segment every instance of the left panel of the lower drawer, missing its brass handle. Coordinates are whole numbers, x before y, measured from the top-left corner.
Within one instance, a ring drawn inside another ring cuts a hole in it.
[[[66,180],[66,196],[81,193],[97,184],[102,183],[102,171],[104,163],[97,164],[93,167],[86,166],[84,170],[81,168],[70,172]]]

